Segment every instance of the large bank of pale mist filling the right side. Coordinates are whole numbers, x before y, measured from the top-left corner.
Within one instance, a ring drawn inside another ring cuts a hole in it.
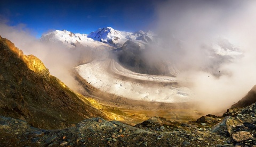
[[[156,7],[156,33],[164,39],[159,54],[181,70],[177,77],[188,80],[203,110],[225,110],[255,85],[255,5],[255,1],[166,1]],[[233,62],[207,57],[205,47],[219,38],[239,46],[243,57]],[[173,41],[177,39],[180,48]],[[213,67],[218,68],[211,71]]]

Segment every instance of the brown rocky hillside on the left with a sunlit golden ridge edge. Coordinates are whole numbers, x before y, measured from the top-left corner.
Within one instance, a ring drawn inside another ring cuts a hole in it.
[[[89,117],[113,119],[97,101],[71,91],[37,57],[0,36],[0,115],[39,128],[64,128]],[[112,111],[111,111],[112,112]]]

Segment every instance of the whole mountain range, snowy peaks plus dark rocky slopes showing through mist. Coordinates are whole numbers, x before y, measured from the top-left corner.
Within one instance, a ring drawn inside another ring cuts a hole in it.
[[[183,46],[187,44],[186,41],[179,40],[175,37],[167,39],[174,46],[170,47],[169,44],[164,44],[163,40],[166,40],[166,38],[161,38],[152,31],[144,32],[140,30],[137,32],[125,32],[115,30],[111,27],[105,27],[89,34],[55,30],[43,34],[40,40],[43,42],[60,43],[69,48],[90,47],[92,49],[116,49],[113,53],[115,58],[118,59],[118,62],[130,70],[139,73],[165,75],[170,71],[166,67],[171,62],[172,65],[170,67],[174,71],[171,69],[170,75],[175,76],[177,71],[181,69],[177,65],[173,65],[173,61],[170,58],[179,58],[181,53],[194,53],[188,51],[188,49],[183,49]],[[239,47],[234,46],[229,40],[223,38],[217,38],[210,44],[202,45],[200,51],[206,57],[203,57],[206,61],[199,68],[214,76],[219,76],[219,74],[215,74],[215,71],[219,71],[221,64],[233,62],[243,56]],[[170,54],[172,54],[172,57],[167,56]],[[175,56],[176,54],[177,56]],[[152,59],[154,60],[153,62]],[[147,65],[149,63],[150,65]],[[161,69],[157,69],[158,67]]]

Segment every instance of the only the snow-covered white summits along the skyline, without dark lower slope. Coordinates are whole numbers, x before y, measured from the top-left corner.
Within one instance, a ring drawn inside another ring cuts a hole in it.
[[[45,42],[60,42],[67,45],[70,48],[77,45],[89,46],[92,48],[105,47],[109,49],[122,47],[128,40],[137,41],[142,44],[148,44],[153,42],[156,35],[151,32],[125,32],[118,31],[111,27],[99,28],[97,31],[93,31],[89,34],[73,33],[67,30],[55,30],[46,34],[43,34],[41,41]]]

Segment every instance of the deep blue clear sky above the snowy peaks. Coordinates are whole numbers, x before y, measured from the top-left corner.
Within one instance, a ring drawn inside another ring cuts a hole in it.
[[[2,1],[0,16],[8,25],[25,25],[37,38],[51,30],[90,33],[112,27],[121,31],[150,30],[157,14],[153,0]]]

